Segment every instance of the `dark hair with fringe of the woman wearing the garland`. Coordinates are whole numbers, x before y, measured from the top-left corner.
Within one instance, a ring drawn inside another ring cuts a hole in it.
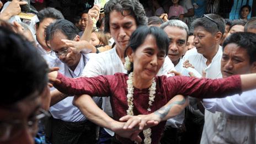
[[[143,44],[146,37],[148,35],[152,35],[156,40],[156,44],[159,50],[164,50],[166,55],[168,54],[169,50],[169,38],[167,34],[157,26],[140,26],[138,27],[134,33],[132,33],[129,44],[127,45],[126,50],[131,47],[132,51],[136,51],[137,48]],[[124,56],[126,57],[126,50]],[[132,65],[131,65],[132,66]],[[133,71],[133,66],[128,73]]]

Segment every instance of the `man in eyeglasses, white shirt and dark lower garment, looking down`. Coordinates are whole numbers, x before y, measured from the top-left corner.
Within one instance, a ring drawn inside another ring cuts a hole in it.
[[[76,26],[68,20],[56,20],[46,28],[47,45],[52,52],[51,56],[46,55],[45,58],[50,67],[60,67],[59,72],[71,78],[80,77],[89,58],[96,55],[73,52],[71,47],[62,41],[63,39],[79,41],[78,33]],[[51,142],[53,144],[95,143],[95,125],[83,116],[72,101],[73,97],[67,97],[51,106],[50,112],[53,116]]]

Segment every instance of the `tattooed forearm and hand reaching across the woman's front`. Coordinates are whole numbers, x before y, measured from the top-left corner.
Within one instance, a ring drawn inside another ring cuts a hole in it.
[[[188,99],[186,97],[183,95],[176,95],[161,109],[154,111],[154,113],[137,116],[126,115],[120,118],[120,121],[127,121],[124,129],[132,129],[134,126],[139,125],[139,129],[143,130],[146,129],[145,126],[148,122],[152,123],[152,121],[154,121],[159,123],[177,116],[187,105]]]

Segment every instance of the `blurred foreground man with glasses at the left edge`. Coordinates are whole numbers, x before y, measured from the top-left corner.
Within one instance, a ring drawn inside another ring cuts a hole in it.
[[[42,99],[50,98],[48,66],[35,47],[13,31],[1,27],[0,39],[0,143],[31,144],[38,120],[47,115],[41,107],[47,109]]]

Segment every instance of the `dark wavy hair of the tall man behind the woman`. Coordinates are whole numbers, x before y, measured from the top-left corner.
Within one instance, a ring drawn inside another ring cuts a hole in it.
[[[147,25],[145,10],[142,4],[138,0],[110,0],[105,4],[104,10],[105,10],[105,21],[104,21],[105,33],[110,33],[109,18],[110,18],[110,13],[113,10],[121,12],[122,15],[124,15],[124,11],[127,10],[127,12],[129,12],[129,15],[132,15],[132,17],[135,18],[137,26]]]

